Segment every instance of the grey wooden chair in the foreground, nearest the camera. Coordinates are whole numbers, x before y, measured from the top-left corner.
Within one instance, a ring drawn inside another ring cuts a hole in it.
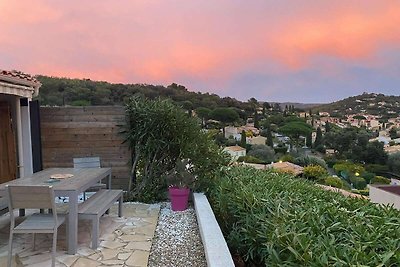
[[[14,209],[52,209],[56,211],[54,190],[48,185],[7,185],[8,209],[10,211],[10,240],[8,244],[8,267],[11,267],[13,235],[19,233],[33,234],[33,249],[35,249],[36,233],[52,233],[52,266],[55,266],[57,229],[66,220],[64,214],[34,213],[15,226]]]

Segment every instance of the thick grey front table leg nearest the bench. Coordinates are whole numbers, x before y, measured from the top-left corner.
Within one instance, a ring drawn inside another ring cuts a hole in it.
[[[68,254],[75,254],[78,246],[78,192],[69,196]]]

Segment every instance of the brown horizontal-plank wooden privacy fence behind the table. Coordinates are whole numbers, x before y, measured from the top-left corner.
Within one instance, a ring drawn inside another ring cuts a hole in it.
[[[130,152],[122,144],[122,106],[41,107],[43,168],[73,167],[73,158],[100,157],[113,188],[127,189]]]

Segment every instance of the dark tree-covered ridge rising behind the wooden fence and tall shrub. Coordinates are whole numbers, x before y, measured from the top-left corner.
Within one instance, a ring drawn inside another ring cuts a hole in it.
[[[185,86],[172,83],[168,86],[150,84],[113,84],[90,79],[69,79],[38,76],[42,83],[38,99],[48,106],[121,105],[135,94],[149,99],[171,98],[186,110],[198,107],[214,109],[231,107],[240,110],[251,109],[251,104],[231,97],[216,94],[191,92]]]

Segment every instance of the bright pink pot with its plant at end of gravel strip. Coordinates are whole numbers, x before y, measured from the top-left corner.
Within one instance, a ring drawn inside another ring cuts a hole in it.
[[[194,175],[190,172],[189,161],[178,160],[166,178],[171,209],[173,211],[186,210],[189,201],[190,186],[195,180]]]

